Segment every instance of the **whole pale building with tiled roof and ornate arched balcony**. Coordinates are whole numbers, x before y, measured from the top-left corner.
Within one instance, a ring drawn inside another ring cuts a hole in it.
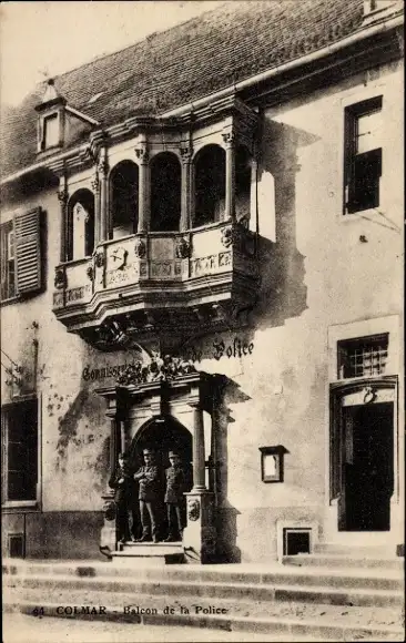
[[[226,3],[2,119],[6,555],[114,551],[144,446],[197,561],[403,543],[402,25]]]

